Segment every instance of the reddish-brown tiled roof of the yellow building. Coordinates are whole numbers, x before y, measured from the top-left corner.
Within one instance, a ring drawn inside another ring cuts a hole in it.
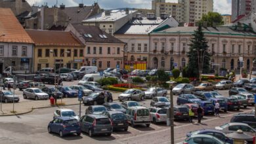
[[[70,31],[26,30],[36,46],[83,46]]]

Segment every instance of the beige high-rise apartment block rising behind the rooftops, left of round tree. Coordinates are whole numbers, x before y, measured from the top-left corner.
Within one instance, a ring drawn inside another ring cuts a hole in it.
[[[203,14],[213,11],[213,0],[179,0],[178,3],[166,3],[165,0],[153,0],[152,9],[156,16],[167,13],[179,23],[195,24]]]

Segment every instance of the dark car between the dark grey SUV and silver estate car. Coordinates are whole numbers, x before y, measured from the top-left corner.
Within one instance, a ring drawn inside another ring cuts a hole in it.
[[[123,129],[125,131],[128,130],[128,120],[124,113],[120,111],[105,111],[102,113],[103,115],[106,115],[106,117],[110,118],[112,121],[113,129]]]

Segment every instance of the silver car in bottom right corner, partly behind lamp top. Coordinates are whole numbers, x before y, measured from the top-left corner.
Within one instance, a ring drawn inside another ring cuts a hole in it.
[[[223,124],[222,126],[216,126],[216,130],[221,130],[225,134],[230,134],[233,132],[236,132],[237,130],[242,130],[245,134],[255,136],[256,130],[251,128],[248,124],[242,123],[242,122],[229,122],[226,124]],[[249,143],[253,142],[253,139],[247,140]]]

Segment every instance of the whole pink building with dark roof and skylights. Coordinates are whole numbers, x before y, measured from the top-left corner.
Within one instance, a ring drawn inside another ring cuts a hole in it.
[[[96,26],[70,24],[66,31],[72,33],[85,45],[85,65],[106,68],[123,68],[123,49],[125,43],[102,31]]]

